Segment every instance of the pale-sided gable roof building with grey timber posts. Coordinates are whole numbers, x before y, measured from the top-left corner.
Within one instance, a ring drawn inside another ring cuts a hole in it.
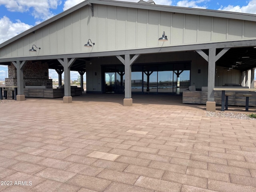
[[[0,64],[17,68],[22,99],[22,68],[27,61],[41,61],[64,71],[68,102],[70,70],[86,72],[87,92],[106,92],[111,67],[114,78],[122,80],[125,105],[132,104],[132,72],[141,72],[141,80],[149,82],[153,72],[158,77],[160,71],[172,71],[179,77],[186,70],[190,85],[208,86],[208,101],[214,102],[214,86],[243,84],[256,67],[255,31],[254,14],[162,6],[151,0],[86,0],[0,44]],[[162,36],[168,40],[158,40]],[[85,47],[87,43],[92,46]],[[36,53],[28,51],[32,47]]]

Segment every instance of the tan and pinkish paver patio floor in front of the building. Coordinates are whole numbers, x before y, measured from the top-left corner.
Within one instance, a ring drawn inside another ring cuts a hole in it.
[[[256,192],[256,120],[207,117],[180,96],[132,97],[0,103],[0,191]]]

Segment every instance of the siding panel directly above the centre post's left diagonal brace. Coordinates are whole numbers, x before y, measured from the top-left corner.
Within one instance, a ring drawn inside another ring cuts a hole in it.
[[[116,9],[116,48],[122,50],[126,48],[126,8]]]

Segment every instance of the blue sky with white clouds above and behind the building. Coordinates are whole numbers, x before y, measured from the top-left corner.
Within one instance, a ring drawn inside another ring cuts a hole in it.
[[[79,4],[83,0],[0,0],[0,43],[28,30],[32,26]],[[139,0],[123,0],[138,2]],[[256,14],[256,0],[154,0],[156,4],[225,10]],[[0,80],[6,78],[6,66],[0,65]],[[54,70],[49,76],[58,78]],[[77,72],[71,72],[76,80]],[[256,77],[256,74],[255,74]]]

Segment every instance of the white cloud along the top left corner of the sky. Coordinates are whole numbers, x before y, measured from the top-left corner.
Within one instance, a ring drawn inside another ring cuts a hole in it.
[[[4,5],[8,11],[31,12],[35,19],[42,21],[54,16],[50,9],[56,9],[61,3],[61,0],[0,0],[0,5]]]

